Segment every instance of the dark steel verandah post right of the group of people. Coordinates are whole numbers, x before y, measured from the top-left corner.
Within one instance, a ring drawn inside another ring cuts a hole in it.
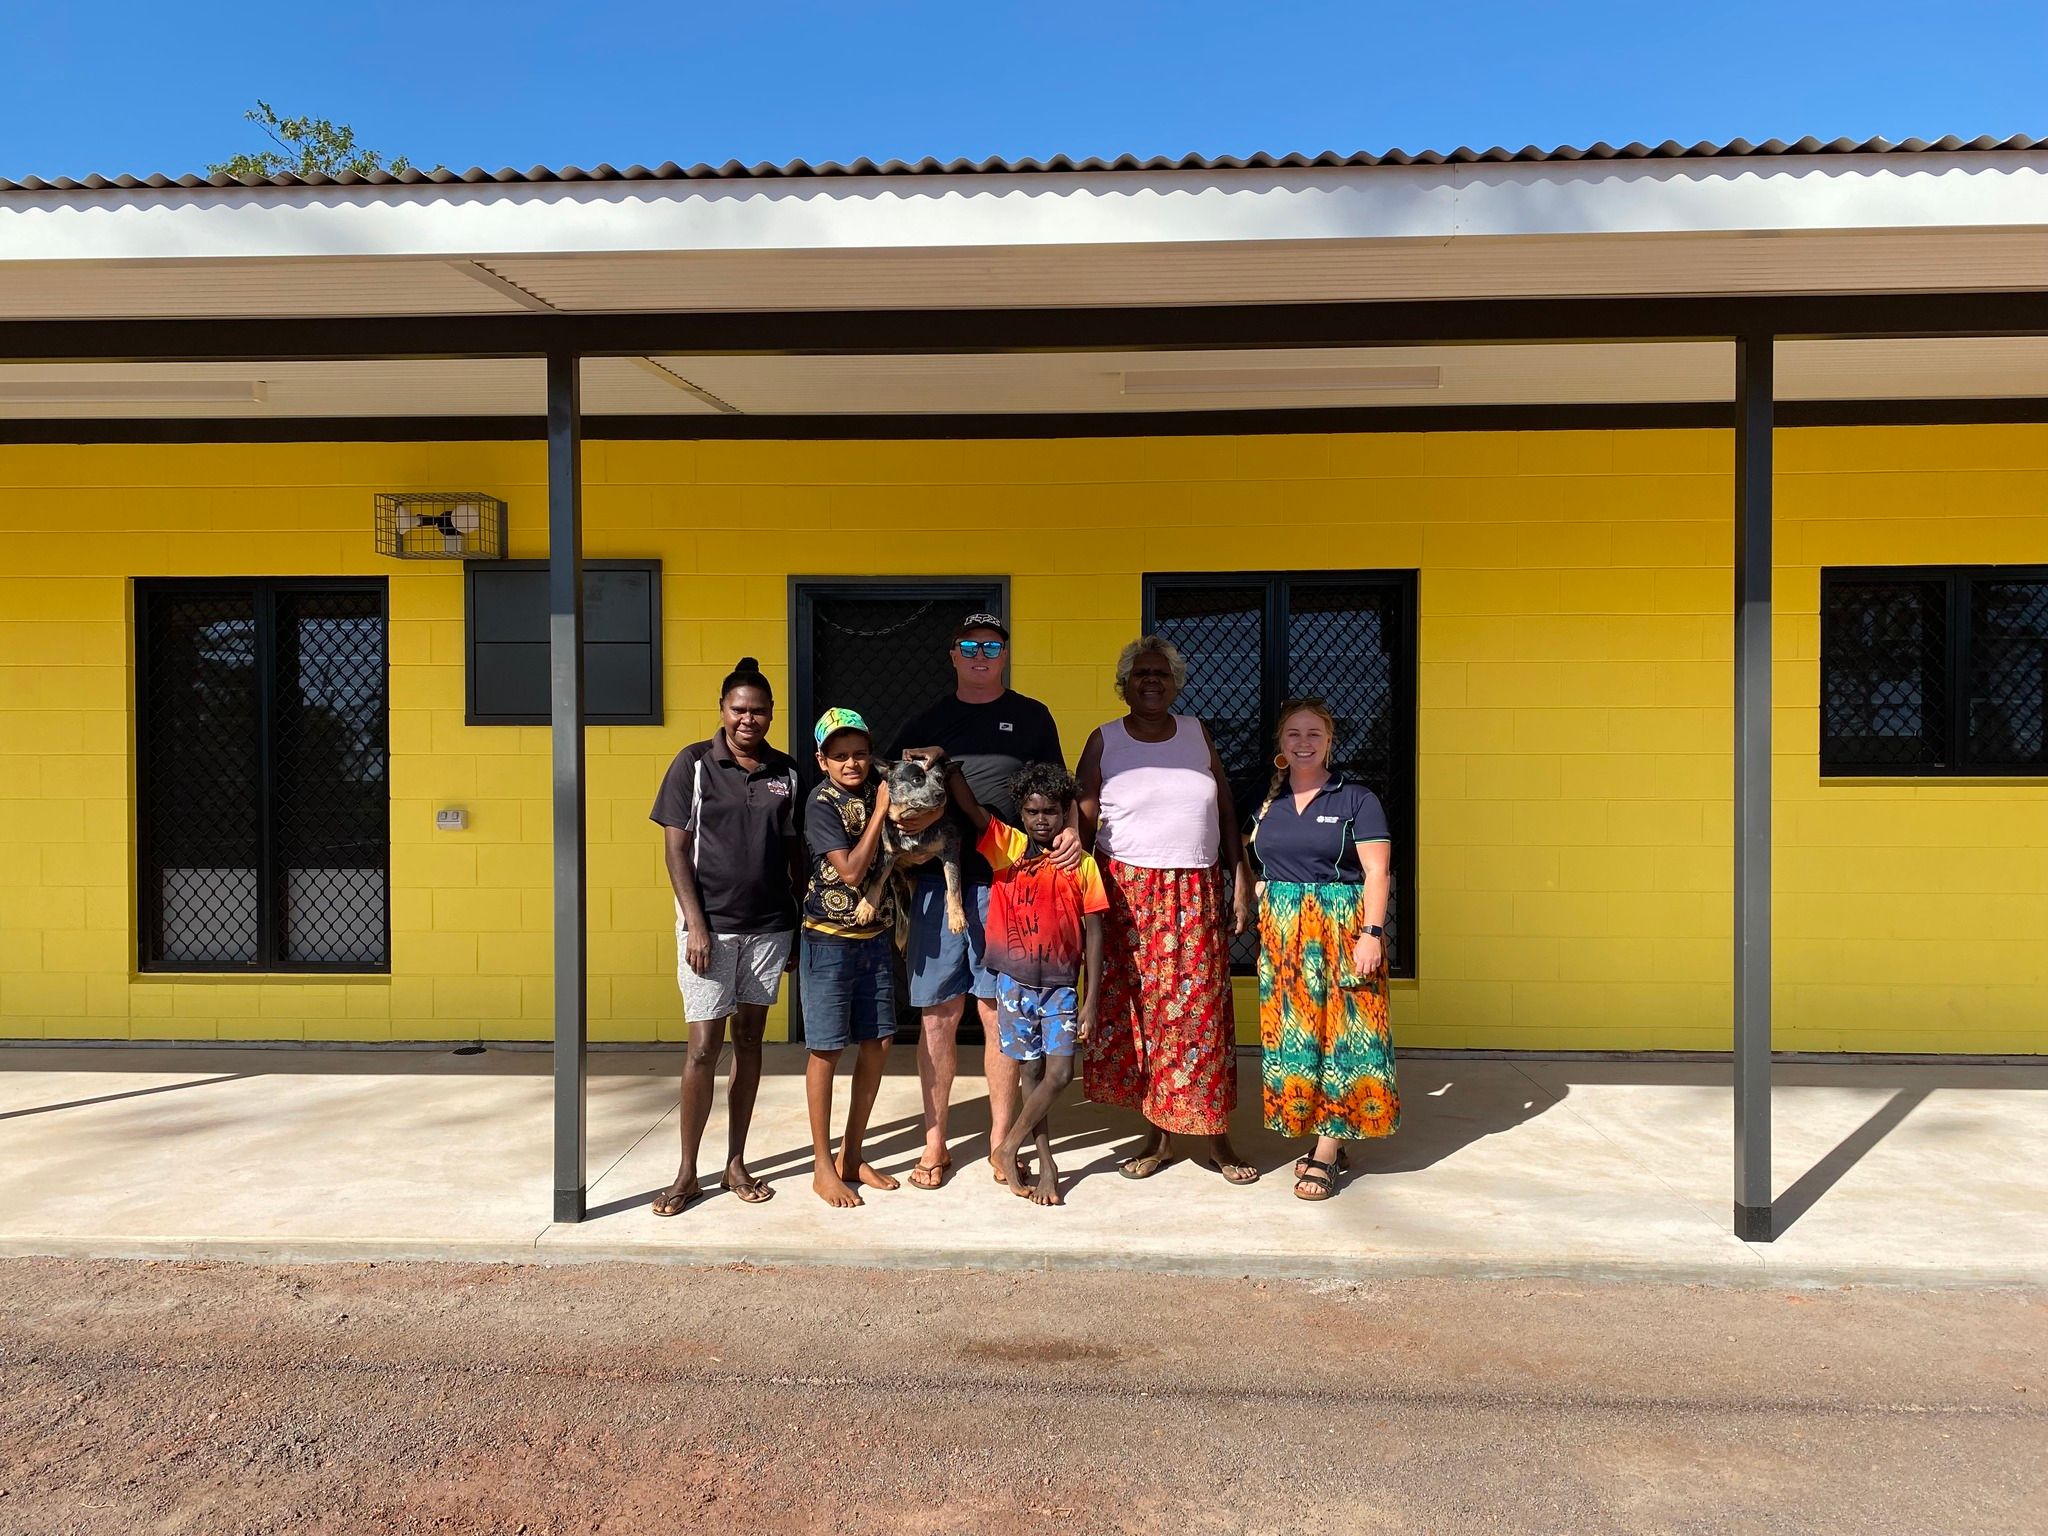
[[[1774,336],[1735,340],[1735,1235],[1772,1231]]]

